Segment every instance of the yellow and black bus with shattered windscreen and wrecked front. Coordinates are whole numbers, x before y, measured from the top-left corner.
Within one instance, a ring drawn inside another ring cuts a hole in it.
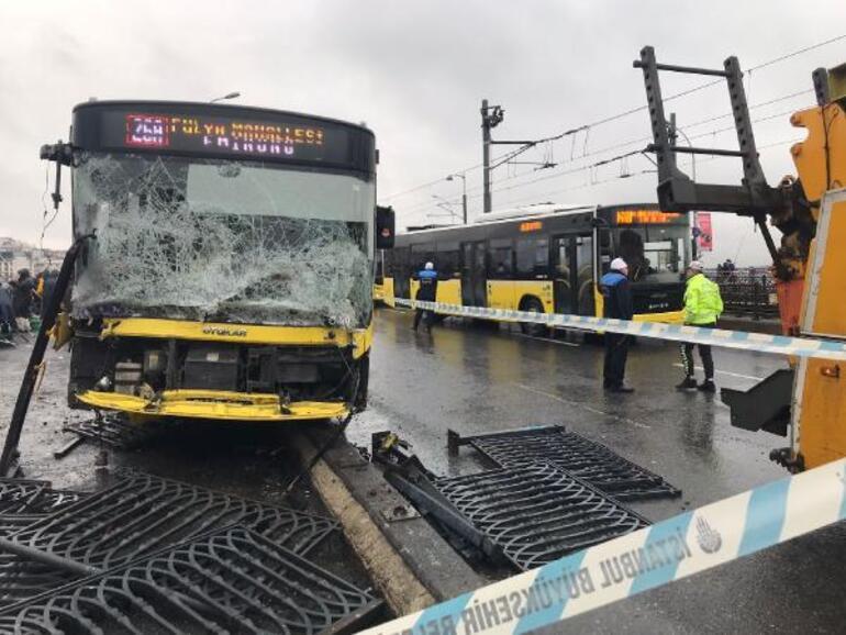
[[[375,254],[393,231],[375,143],[276,110],[77,105],[63,163],[75,238],[93,237],[59,328],[71,405],[242,421],[364,408]]]

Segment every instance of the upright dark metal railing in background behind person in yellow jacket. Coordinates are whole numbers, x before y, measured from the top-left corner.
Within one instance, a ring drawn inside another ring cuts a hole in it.
[[[720,285],[725,313],[752,315],[755,320],[778,316],[776,281],[769,269],[762,267],[734,271],[708,269],[705,275]]]

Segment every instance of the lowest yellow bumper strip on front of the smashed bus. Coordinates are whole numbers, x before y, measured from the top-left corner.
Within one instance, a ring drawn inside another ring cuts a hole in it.
[[[222,390],[166,390],[156,399],[134,394],[88,390],[76,398],[92,408],[145,416],[222,419],[230,421],[310,421],[344,417],[345,403],[294,401],[282,404],[276,394],[251,394]]]

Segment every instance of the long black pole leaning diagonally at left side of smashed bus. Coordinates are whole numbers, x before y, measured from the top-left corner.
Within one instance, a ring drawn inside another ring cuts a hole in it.
[[[47,309],[44,313],[44,320],[41,323],[38,335],[32,347],[30,361],[26,365],[26,370],[24,371],[23,380],[21,381],[21,389],[18,391],[18,401],[14,403],[12,421],[9,423],[9,431],[5,433],[3,454],[0,456],[0,476],[9,475],[9,468],[14,458],[14,453],[18,449],[18,442],[21,439],[23,422],[26,419],[26,412],[30,409],[30,400],[32,399],[32,393],[38,379],[42,361],[44,361],[44,353],[47,350],[49,334],[53,331],[53,326],[56,324],[56,316],[62,307],[62,300],[65,298],[65,291],[67,291],[68,285],[70,283],[70,277],[74,274],[74,264],[76,263],[77,255],[79,254],[82,244],[88,238],[93,237],[93,234],[87,234],[77,238],[70,246],[65,254],[65,259],[62,261],[62,269],[59,269],[56,286],[53,288],[49,298],[47,298]]]

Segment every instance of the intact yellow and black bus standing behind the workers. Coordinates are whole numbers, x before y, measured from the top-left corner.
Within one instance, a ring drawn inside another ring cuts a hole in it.
[[[438,302],[601,316],[595,281],[620,256],[630,266],[635,320],[680,323],[690,249],[688,216],[655,204],[530,205],[398,235],[385,252],[385,285],[414,298],[414,274],[431,260]]]

